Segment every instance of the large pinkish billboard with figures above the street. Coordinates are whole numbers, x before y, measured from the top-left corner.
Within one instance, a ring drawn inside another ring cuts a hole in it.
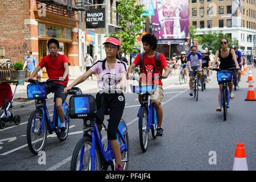
[[[185,39],[189,32],[188,0],[155,0],[153,34],[158,39]]]

